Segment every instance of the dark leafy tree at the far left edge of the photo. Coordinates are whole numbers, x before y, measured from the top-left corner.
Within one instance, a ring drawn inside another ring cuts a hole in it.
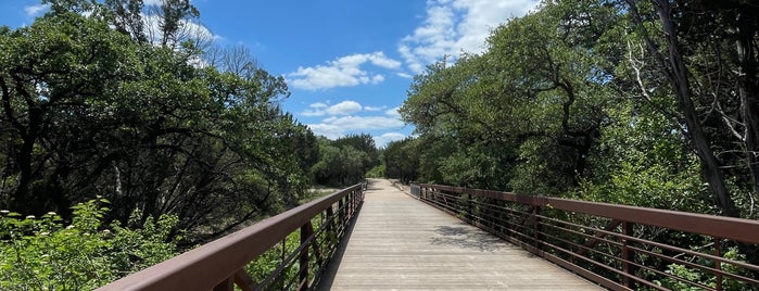
[[[50,207],[47,202],[68,208],[62,184],[77,185],[68,179],[87,163],[69,153],[93,150],[78,128],[97,124],[88,104],[138,66],[130,59],[134,46],[106,24],[74,13],[41,18],[3,37],[5,201],[33,212]]]

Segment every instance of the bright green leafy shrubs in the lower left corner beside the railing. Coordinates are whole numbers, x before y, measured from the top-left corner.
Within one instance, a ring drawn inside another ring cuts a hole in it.
[[[23,217],[0,213],[0,289],[91,290],[176,255],[178,218],[149,217],[139,228],[118,223],[103,228],[105,199],[73,207],[64,226],[60,215]],[[130,224],[139,224],[137,212]]]

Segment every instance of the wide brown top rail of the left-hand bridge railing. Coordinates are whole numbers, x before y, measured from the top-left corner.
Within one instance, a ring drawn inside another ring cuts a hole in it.
[[[99,290],[211,290],[289,233],[355,190],[357,184],[111,282]]]

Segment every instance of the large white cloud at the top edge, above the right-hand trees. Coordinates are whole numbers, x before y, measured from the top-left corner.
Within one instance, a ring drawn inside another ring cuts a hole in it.
[[[399,53],[416,74],[444,55],[480,53],[491,29],[536,4],[534,0],[429,0],[425,22],[403,38]]]

